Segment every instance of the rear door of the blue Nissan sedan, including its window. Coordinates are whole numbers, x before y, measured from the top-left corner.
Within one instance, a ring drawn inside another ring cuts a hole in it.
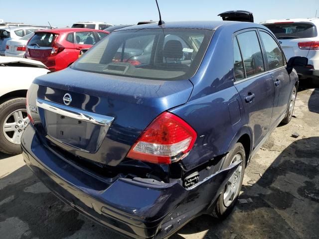
[[[271,74],[265,71],[257,30],[239,32],[234,37],[233,45],[234,85],[244,105],[255,149],[269,132],[274,105],[274,83]]]

